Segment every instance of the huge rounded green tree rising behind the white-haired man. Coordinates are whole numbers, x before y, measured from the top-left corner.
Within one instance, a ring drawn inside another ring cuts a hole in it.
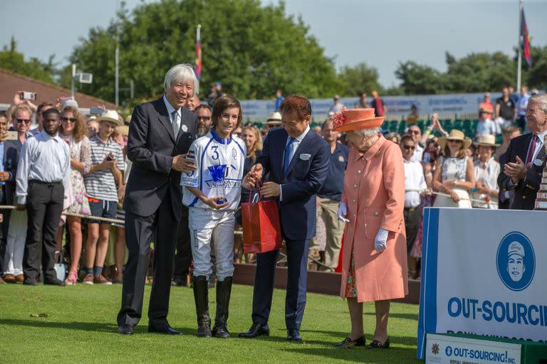
[[[120,87],[135,80],[137,99],[161,95],[172,65],[194,63],[197,23],[202,24],[201,95],[215,81],[241,99],[273,97],[278,87],[286,95],[330,97],[341,85],[333,61],[301,18],[285,14],[283,2],[162,0],[141,4],[131,15],[120,11],[119,17]],[[78,68],[93,73],[86,92],[105,100],[114,100],[115,34],[114,22],[93,28],[71,55]]]

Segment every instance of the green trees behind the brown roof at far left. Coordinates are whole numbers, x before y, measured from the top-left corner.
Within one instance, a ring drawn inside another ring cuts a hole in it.
[[[51,55],[48,63],[43,63],[38,58],[31,58],[26,61],[23,53],[17,51],[17,42],[11,37],[9,48],[4,45],[4,48],[0,51],[0,68],[35,80],[53,83],[53,77],[56,74],[53,58],[55,56]]]

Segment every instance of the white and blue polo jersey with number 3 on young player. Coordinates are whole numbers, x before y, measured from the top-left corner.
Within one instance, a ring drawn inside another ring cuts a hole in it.
[[[187,153],[187,158],[195,159],[197,170],[192,173],[182,173],[180,186],[182,187],[182,203],[188,207],[207,208],[194,193],[188,191],[185,186],[199,188],[208,198],[217,196],[217,188],[224,188],[224,196],[230,203],[222,210],[236,210],[241,199],[241,180],[243,179],[243,167],[246,158],[246,146],[238,137],[222,139],[214,130],[207,135],[196,139]],[[214,183],[209,171],[209,166],[224,165],[224,185]]]

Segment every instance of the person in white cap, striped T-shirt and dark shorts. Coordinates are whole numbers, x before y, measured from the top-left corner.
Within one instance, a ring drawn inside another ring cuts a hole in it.
[[[115,127],[122,122],[118,112],[107,110],[97,121],[98,133],[90,137],[91,168],[84,177],[91,215],[99,218],[115,218],[118,205],[118,186],[123,178],[123,152],[112,139]],[[110,223],[88,220],[88,238],[85,242],[85,278],[83,284],[112,284],[103,276]]]

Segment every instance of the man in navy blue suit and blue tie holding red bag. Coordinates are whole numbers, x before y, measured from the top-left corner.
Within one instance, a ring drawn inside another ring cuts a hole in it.
[[[283,127],[272,129],[264,139],[262,154],[245,177],[244,187],[254,186],[269,173],[261,193],[265,198],[277,198],[279,203],[288,262],[287,339],[302,341],[299,331],[306,307],[308,245],[316,235],[316,194],[327,177],[330,147],[310,129],[311,105],[306,97],[286,97],[279,111]],[[277,257],[278,250],[256,255],[253,324],[249,331],[239,334],[242,338],[269,335]]]

